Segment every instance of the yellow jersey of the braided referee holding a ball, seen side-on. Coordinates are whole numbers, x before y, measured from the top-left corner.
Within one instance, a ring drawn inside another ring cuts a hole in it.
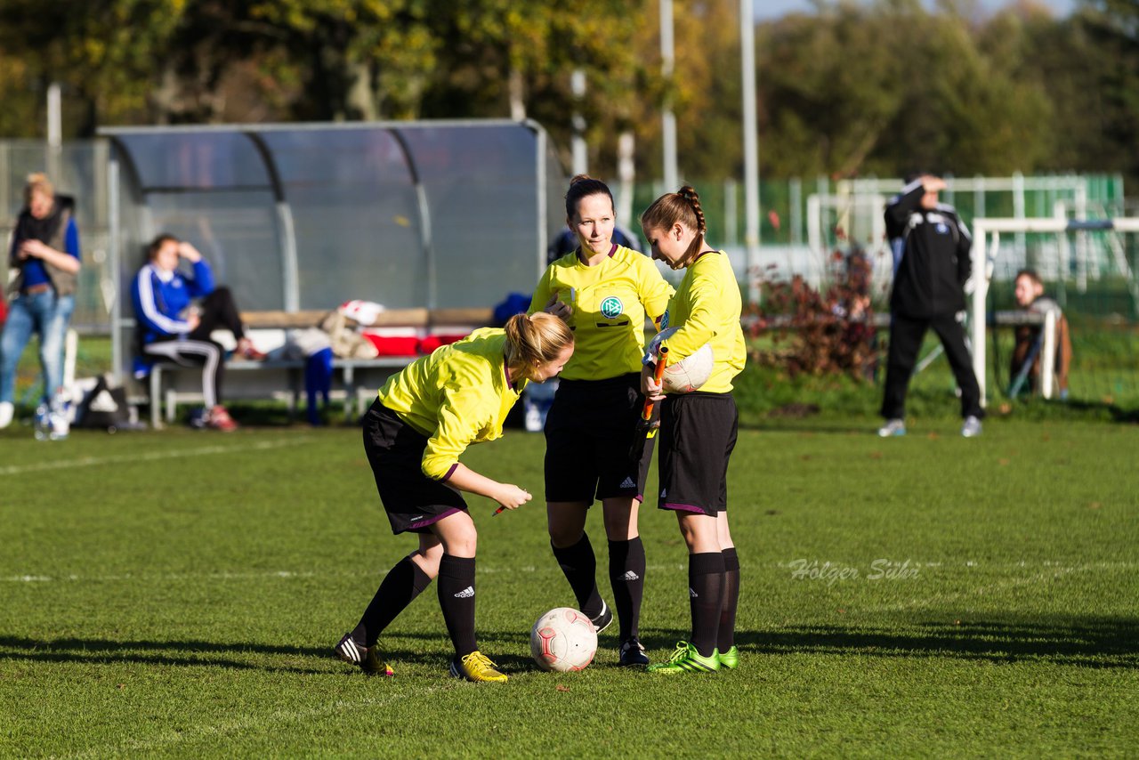
[[[744,369],[747,349],[739,325],[741,308],[739,284],[723,251],[704,253],[689,264],[669,302],[661,329],[679,328],[662,343],[669,349],[670,365],[696,353],[705,343],[712,344],[715,363],[702,392],[729,392],[732,378]]]

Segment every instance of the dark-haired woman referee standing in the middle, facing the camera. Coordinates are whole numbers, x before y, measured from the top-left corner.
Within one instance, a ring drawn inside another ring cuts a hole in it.
[[[645,318],[664,313],[670,286],[653,261],[613,242],[613,194],[579,174],[566,193],[566,223],[579,246],[554,261],[538,283],[531,313],[546,310],[574,332],[573,359],[562,373],[546,418],[546,501],[554,556],[598,632],[613,612],[597,588],[597,559],[585,516],[601,501],[609,544],[609,583],[620,620],[620,662],[646,665],[638,632],[645,547],[637,530],[653,449],[632,460],[644,404],[640,360]]]

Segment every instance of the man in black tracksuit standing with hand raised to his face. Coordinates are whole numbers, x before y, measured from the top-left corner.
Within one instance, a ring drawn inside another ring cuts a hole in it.
[[[961,434],[981,433],[981,390],[957,313],[965,310],[965,280],[972,272],[973,238],[951,205],[937,202],[945,188],[939,177],[907,180],[886,205],[886,235],[894,251],[894,287],[890,297],[890,353],[882,436],[906,433],[906,390],[927,328],[933,328],[961,389]]]

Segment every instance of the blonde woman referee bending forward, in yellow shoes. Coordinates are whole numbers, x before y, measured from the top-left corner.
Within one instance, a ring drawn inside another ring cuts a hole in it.
[[[392,567],[357,627],[335,652],[366,673],[391,676],[380,632],[439,577],[439,604],[454,645],[451,675],[505,681],[475,639],[477,533],[460,491],[507,509],[530,493],[459,461],[472,443],[502,435],[507,412],[530,381],[557,375],[573,356],[573,333],[550,314],[516,314],[505,329],[475,330],[391,377],[364,417],[363,448],[394,533],[419,534],[419,548]]]

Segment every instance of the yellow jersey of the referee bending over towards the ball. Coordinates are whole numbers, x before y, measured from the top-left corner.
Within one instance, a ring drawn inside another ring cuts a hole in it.
[[[485,327],[404,367],[379,389],[379,400],[427,436],[423,472],[444,481],[468,446],[501,438],[525,386],[507,378],[506,330]]]

